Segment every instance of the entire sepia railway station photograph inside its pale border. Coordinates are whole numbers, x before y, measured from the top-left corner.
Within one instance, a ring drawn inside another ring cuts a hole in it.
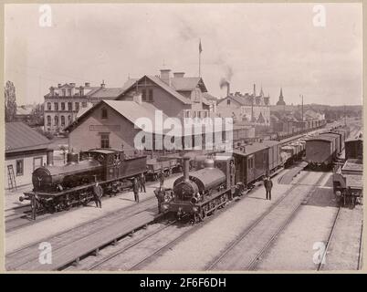
[[[363,268],[362,4],[6,4],[5,270]]]

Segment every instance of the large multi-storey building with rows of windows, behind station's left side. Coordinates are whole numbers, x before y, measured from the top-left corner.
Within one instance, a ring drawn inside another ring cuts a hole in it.
[[[101,99],[117,99],[122,92],[123,88],[106,88],[104,82],[100,87],[91,87],[88,82],[83,86],[65,83],[51,87],[45,95],[45,130],[60,132],[76,120],[80,109],[97,104]]]

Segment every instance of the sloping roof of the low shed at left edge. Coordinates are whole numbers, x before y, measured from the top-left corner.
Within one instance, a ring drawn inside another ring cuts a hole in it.
[[[5,123],[5,152],[47,148],[50,141],[23,122]]]

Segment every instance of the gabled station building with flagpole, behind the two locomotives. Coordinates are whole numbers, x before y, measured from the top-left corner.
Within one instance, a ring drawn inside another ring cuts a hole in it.
[[[139,126],[138,120],[148,118],[154,124],[151,133],[147,133],[147,136],[152,134],[153,142],[151,147],[143,150],[160,151],[162,149],[156,148],[155,141],[158,138],[163,140],[172,135],[172,132],[170,127],[158,127],[159,130],[155,127],[158,124],[156,113],[159,111],[162,112],[160,119],[163,123],[168,118],[175,118],[184,128],[180,138],[174,140],[178,143],[175,149],[180,150],[180,145],[185,148],[188,140],[192,141],[191,145],[201,143],[201,147],[205,147],[205,135],[195,135],[197,129],[189,124],[193,120],[215,118],[211,103],[204,98],[207,92],[204,81],[202,78],[185,78],[183,72],[171,76],[170,71],[163,69],[161,76],[145,75],[139,79],[130,79],[130,85],[125,87],[116,100],[102,99],[96,106],[86,110],[66,128],[69,132],[69,149],[86,151],[91,148],[123,148],[127,154],[132,153],[137,150],[135,137],[145,131]],[[190,130],[190,127],[193,129]],[[225,125],[221,128],[213,127],[209,134],[221,135],[221,141],[225,141],[229,135],[226,134]]]

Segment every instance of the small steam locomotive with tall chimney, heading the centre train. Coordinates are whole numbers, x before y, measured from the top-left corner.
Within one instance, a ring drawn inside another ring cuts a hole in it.
[[[214,156],[206,158],[198,170],[190,172],[189,169],[190,157],[184,156],[184,176],[173,183],[173,189],[163,191],[161,210],[179,218],[188,214],[197,222],[231,200],[235,192],[234,159]]]

